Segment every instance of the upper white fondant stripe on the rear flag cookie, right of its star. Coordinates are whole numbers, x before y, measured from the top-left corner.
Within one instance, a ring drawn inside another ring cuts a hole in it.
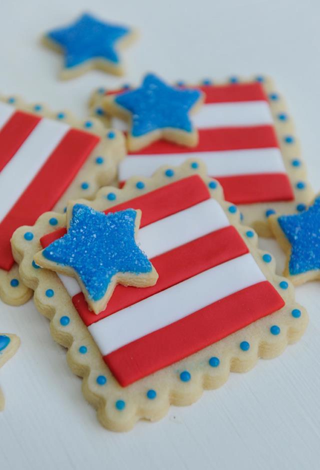
[[[272,124],[266,101],[208,103],[192,114],[197,128]]]

